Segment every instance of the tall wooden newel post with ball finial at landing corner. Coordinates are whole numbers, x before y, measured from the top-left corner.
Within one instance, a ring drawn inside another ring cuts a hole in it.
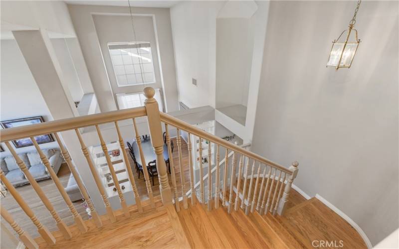
[[[150,130],[151,143],[154,147],[155,154],[157,155],[157,171],[159,179],[159,188],[161,198],[164,205],[172,205],[172,192],[169,185],[168,172],[166,169],[164,158],[164,139],[162,137],[161,116],[157,101],[154,99],[155,90],[152,87],[144,88],[144,96],[146,107],[148,128]]]

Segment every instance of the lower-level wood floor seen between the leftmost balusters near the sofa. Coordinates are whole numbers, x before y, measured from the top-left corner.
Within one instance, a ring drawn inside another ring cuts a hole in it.
[[[57,176],[64,187],[66,187],[68,183],[69,175],[70,171],[68,165],[66,165],[66,163],[63,163],[57,173]],[[39,181],[38,184],[43,189],[47,198],[54,206],[54,209],[57,211],[58,215],[65,222],[65,224],[68,226],[74,224],[72,214],[69,211],[69,208],[66,206],[64,199],[62,199],[62,196],[58,192],[54,182],[51,179],[47,179]],[[18,187],[16,188],[16,190],[44,226],[46,226],[50,231],[58,230],[55,221],[41,202],[40,198],[37,196],[36,192],[30,186],[30,184]],[[76,201],[73,202],[73,205],[76,208],[76,211],[82,216],[82,219],[88,220],[89,217],[85,211],[85,208],[82,206],[82,203],[82,201]],[[32,221],[22,211],[18,203],[16,203],[14,198],[9,193],[7,193],[5,197],[1,196],[1,205],[11,214],[16,223],[18,223],[24,231],[28,232],[32,236],[32,238],[39,236],[39,234],[37,233],[37,229],[33,225]],[[16,235],[14,230],[9,226],[7,222],[3,221],[2,218],[1,222],[5,224],[5,226],[7,226],[9,231]]]

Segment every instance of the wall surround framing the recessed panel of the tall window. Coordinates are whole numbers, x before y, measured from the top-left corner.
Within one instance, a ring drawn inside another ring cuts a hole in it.
[[[68,5],[68,8],[101,111],[116,110],[116,103],[113,98],[96,27],[93,22],[93,13],[129,15],[129,8],[96,5]],[[179,103],[169,9],[133,7],[132,12],[137,15],[151,15],[156,20],[155,35],[159,45],[157,52],[160,57],[160,74],[164,85],[163,89],[165,90],[165,106],[168,112],[176,111],[179,109]],[[115,27],[115,29],[118,29],[118,27]],[[121,30],[121,32],[127,31]],[[133,33],[132,30],[130,32]]]

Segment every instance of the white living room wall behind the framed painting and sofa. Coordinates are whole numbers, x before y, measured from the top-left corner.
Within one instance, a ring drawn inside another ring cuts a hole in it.
[[[44,121],[51,121],[47,105],[15,40],[1,40],[0,60],[0,120],[43,116]],[[2,143],[1,146],[5,150],[1,156],[8,155],[5,144]],[[51,142],[41,144],[40,147],[54,148],[58,145],[57,142]],[[31,150],[34,150],[33,146],[18,148],[16,152]]]

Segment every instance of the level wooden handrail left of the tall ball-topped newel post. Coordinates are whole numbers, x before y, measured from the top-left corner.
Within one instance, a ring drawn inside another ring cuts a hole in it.
[[[30,136],[38,136],[53,132],[65,131],[75,128],[87,127],[96,124],[113,123],[115,121],[127,120],[146,116],[145,107],[137,107],[119,111],[92,114],[70,119],[54,120],[40,124],[23,125],[1,129],[1,142],[20,139]]]

